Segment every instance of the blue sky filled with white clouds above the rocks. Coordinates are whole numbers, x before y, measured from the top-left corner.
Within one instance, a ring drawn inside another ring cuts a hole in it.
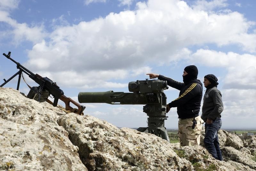
[[[196,65],[201,82],[207,74],[219,80],[222,129],[255,129],[255,5],[254,0],[0,0],[0,52],[11,51],[12,59],[50,78],[77,102],[79,92],[129,92],[128,83],[148,79],[147,73],[182,82],[184,68]],[[15,63],[0,57],[0,84],[16,72]],[[18,76],[4,87],[16,89],[17,81]],[[29,92],[23,80],[19,90]],[[167,103],[179,96],[171,87],[164,93]],[[143,105],[82,105],[85,115],[118,127],[147,127]],[[167,116],[165,127],[177,129],[177,109]]]

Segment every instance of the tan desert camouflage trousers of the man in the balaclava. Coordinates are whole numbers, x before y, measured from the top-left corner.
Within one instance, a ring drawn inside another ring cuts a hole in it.
[[[199,146],[200,145],[200,133],[203,126],[203,119],[200,116],[196,117],[197,124],[192,129],[194,118],[179,119],[179,137],[180,146]]]

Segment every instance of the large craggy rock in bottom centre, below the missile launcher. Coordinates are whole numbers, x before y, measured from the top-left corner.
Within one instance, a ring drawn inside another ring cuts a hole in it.
[[[79,147],[80,157],[89,170],[192,170],[169,142],[153,134],[129,128],[118,129],[92,116],[66,114],[58,124]]]

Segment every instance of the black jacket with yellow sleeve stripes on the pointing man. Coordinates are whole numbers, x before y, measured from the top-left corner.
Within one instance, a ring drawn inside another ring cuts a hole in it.
[[[165,80],[169,86],[180,90],[179,97],[169,103],[171,108],[177,107],[179,118],[185,119],[199,116],[203,96],[203,85],[200,80],[195,79],[185,84],[163,75],[159,75],[158,79]]]

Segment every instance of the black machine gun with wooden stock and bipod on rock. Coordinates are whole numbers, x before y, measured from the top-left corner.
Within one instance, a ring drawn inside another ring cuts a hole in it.
[[[63,101],[65,103],[66,110],[70,110],[79,115],[83,115],[83,111],[84,111],[85,107],[76,103],[71,98],[64,96],[64,92],[60,89],[60,87],[56,84],[56,82],[52,82],[52,80],[50,80],[47,77],[42,77],[38,74],[34,74],[31,71],[29,71],[27,68],[20,65],[20,63],[14,61],[11,58],[11,52],[9,52],[7,55],[5,53],[3,53],[3,55],[6,58],[13,61],[15,64],[17,64],[17,69],[19,69],[19,71],[16,74],[14,74],[11,78],[9,78],[7,81],[4,79],[4,83],[2,85],[0,85],[0,87],[3,87],[7,82],[12,80],[12,78],[14,78],[16,75],[19,75],[18,84],[17,84],[17,90],[19,90],[20,78],[21,78],[22,72],[24,72],[25,74],[27,74],[29,76],[29,78],[31,78],[37,84],[39,84],[38,87],[32,87],[32,88],[29,87],[30,91],[27,96],[28,98],[35,99],[38,102],[47,101],[48,103],[51,103],[53,106],[57,106],[58,100],[60,99],[61,101]],[[50,100],[48,100],[48,97],[50,95],[52,95],[54,98],[53,103]],[[72,108],[70,106],[70,102],[73,103],[74,105],[76,105],[78,109]]]

